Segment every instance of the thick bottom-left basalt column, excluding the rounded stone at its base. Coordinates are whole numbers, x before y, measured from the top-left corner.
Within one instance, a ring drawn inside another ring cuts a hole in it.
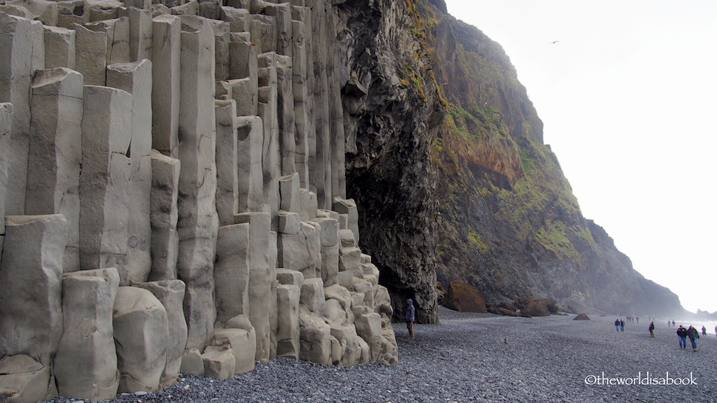
[[[0,270],[0,355],[49,368],[62,336],[62,214],[5,216]],[[32,296],[32,298],[28,298]]]

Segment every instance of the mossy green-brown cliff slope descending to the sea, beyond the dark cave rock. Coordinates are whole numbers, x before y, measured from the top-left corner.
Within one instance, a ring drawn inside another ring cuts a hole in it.
[[[500,45],[440,0],[417,2],[417,13],[447,100],[431,149],[437,279],[465,280],[493,305],[533,295],[576,313],[681,313],[677,295],[582,216]]]

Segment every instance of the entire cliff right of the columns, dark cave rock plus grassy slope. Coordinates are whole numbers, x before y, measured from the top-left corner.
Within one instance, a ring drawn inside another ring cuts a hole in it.
[[[582,216],[500,45],[442,0],[380,3],[340,13],[364,38],[348,64],[366,87],[343,90],[356,132],[346,181],[397,312],[414,298],[419,321],[436,320],[433,270],[488,303],[534,295],[576,312],[681,312]]]

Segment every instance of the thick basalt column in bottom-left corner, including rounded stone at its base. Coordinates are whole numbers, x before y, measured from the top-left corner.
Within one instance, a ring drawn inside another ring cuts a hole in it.
[[[62,336],[61,214],[6,216],[0,270],[0,384],[17,402],[57,397],[52,358]],[[33,298],[28,298],[32,295]]]

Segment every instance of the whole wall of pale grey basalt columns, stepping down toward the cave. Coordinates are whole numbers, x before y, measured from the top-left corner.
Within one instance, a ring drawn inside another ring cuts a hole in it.
[[[7,402],[397,363],[346,199],[331,3],[0,5]]]

